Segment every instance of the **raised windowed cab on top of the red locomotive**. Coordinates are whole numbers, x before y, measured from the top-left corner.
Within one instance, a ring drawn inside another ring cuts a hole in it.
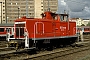
[[[68,21],[68,14],[55,14],[50,11],[41,14],[42,19],[60,20],[61,22]]]

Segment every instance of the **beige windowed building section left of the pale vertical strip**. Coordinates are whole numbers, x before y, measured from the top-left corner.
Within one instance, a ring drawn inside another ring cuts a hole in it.
[[[28,3],[28,8],[26,3]],[[34,0],[6,0],[7,23],[13,23],[15,19],[26,16],[26,11],[28,11],[28,16],[33,18],[34,9]]]

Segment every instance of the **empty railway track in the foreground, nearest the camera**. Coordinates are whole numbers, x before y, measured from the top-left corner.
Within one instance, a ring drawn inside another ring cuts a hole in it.
[[[32,55],[32,56],[29,56],[28,58],[24,58],[23,60],[54,60],[55,58],[82,52],[84,50],[89,50],[90,49],[89,46],[75,47],[75,48],[70,48],[65,50],[52,51],[45,54]]]

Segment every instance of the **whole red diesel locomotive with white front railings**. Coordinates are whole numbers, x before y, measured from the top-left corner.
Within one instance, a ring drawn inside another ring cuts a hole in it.
[[[76,22],[69,21],[68,14],[47,11],[41,16],[15,20],[14,38],[8,38],[9,46],[41,49],[76,42]]]

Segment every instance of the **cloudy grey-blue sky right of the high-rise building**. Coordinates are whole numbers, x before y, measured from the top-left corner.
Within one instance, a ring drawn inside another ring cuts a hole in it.
[[[58,13],[66,10],[71,18],[90,19],[90,0],[58,0]]]

